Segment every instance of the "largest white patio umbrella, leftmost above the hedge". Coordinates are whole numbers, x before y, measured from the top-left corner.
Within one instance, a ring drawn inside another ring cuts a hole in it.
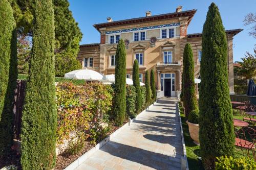
[[[77,69],[65,74],[66,79],[83,79],[83,80],[102,80],[103,76],[99,72],[91,69]]]

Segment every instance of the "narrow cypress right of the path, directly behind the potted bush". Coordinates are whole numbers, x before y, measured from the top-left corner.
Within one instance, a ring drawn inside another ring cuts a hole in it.
[[[187,117],[191,110],[197,108],[197,96],[194,78],[194,59],[191,45],[187,43],[183,53],[183,101],[185,107],[185,116]]]

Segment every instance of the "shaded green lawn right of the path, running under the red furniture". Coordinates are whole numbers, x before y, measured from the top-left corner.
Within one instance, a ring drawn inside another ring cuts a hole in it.
[[[184,114],[183,107],[181,106],[181,103],[179,102],[179,109],[180,109],[180,116],[181,116],[181,122],[182,122],[182,129],[183,129],[183,134],[184,134],[184,140],[185,140],[185,145],[186,145],[186,152],[187,152],[187,161],[188,161],[188,167],[189,169],[193,170],[201,170],[203,168],[203,164],[201,162],[200,158],[200,146],[196,145],[193,142],[193,139],[191,139],[188,131],[188,125],[186,123],[186,118]],[[241,119],[243,120],[243,116],[239,114],[239,112],[234,112],[233,118]],[[253,158],[252,152],[250,152],[251,158]],[[244,152],[236,147],[234,150],[234,158],[239,158],[239,157],[247,157],[246,151]]]

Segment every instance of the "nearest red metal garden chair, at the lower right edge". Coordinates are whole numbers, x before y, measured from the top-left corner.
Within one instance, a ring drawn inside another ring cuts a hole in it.
[[[238,127],[234,129],[236,134],[235,145],[241,148],[242,152],[244,150],[249,158],[251,158],[251,152],[254,161],[256,161],[255,156],[255,140],[256,140],[256,131],[250,127]],[[250,152],[251,151],[251,152]]]

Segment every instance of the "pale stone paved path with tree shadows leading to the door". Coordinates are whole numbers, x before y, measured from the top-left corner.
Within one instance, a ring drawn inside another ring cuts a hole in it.
[[[175,99],[161,99],[84,161],[84,169],[181,169],[182,141]]]

